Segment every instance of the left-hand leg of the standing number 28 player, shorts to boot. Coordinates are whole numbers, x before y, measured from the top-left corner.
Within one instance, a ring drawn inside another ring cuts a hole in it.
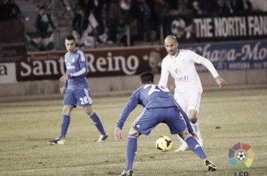
[[[67,129],[70,125],[70,113],[76,107],[77,100],[73,95],[73,91],[67,89],[63,99],[63,119],[60,125],[60,136],[56,140],[48,142],[48,144],[65,144]]]

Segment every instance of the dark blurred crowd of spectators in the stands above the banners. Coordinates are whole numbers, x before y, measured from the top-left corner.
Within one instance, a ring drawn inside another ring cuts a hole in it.
[[[170,15],[266,11],[266,0],[0,0],[0,20],[20,19],[25,32],[72,33],[78,47],[160,44]]]

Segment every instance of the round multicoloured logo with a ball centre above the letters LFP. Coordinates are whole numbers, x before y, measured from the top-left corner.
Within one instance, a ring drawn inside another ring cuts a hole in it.
[[[238,142],[229,149],[229,163],[237,169],[249,168],[253,163],[255,153],[249,144]]]

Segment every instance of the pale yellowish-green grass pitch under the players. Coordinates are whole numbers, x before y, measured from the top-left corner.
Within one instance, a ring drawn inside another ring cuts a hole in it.
[[[114,129],[127,96],[93,97],[107,142],[96,143],[99,134],[83,109],[72,111],[65,145],[48,145],[60,132],[62,99],[35,99],[0,103],[0,175],[120,175],[124,170],[127,132],[142,107],[134,110],[116,142]],[[218,170],[208,172],[192,151],[175,153],[180,145],[167,125],[158,125],[150,136],[138,139],[133,173],[139,175],[267,175],[267,90],[240,89],[202,94],[200,130],[203,149]],[[171,151],[155,147],[161,135],[171,137]],[[249,168],[237,170],[228,163],[228,151],[237,142],[249,144],[255,158]],[[246,174],[246,173],[245,173]]]

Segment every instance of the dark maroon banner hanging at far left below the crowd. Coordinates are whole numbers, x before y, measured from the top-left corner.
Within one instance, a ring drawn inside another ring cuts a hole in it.
[[[0,23],[0,63],[25,61],[24,25],[20,20],[4,20]]]

